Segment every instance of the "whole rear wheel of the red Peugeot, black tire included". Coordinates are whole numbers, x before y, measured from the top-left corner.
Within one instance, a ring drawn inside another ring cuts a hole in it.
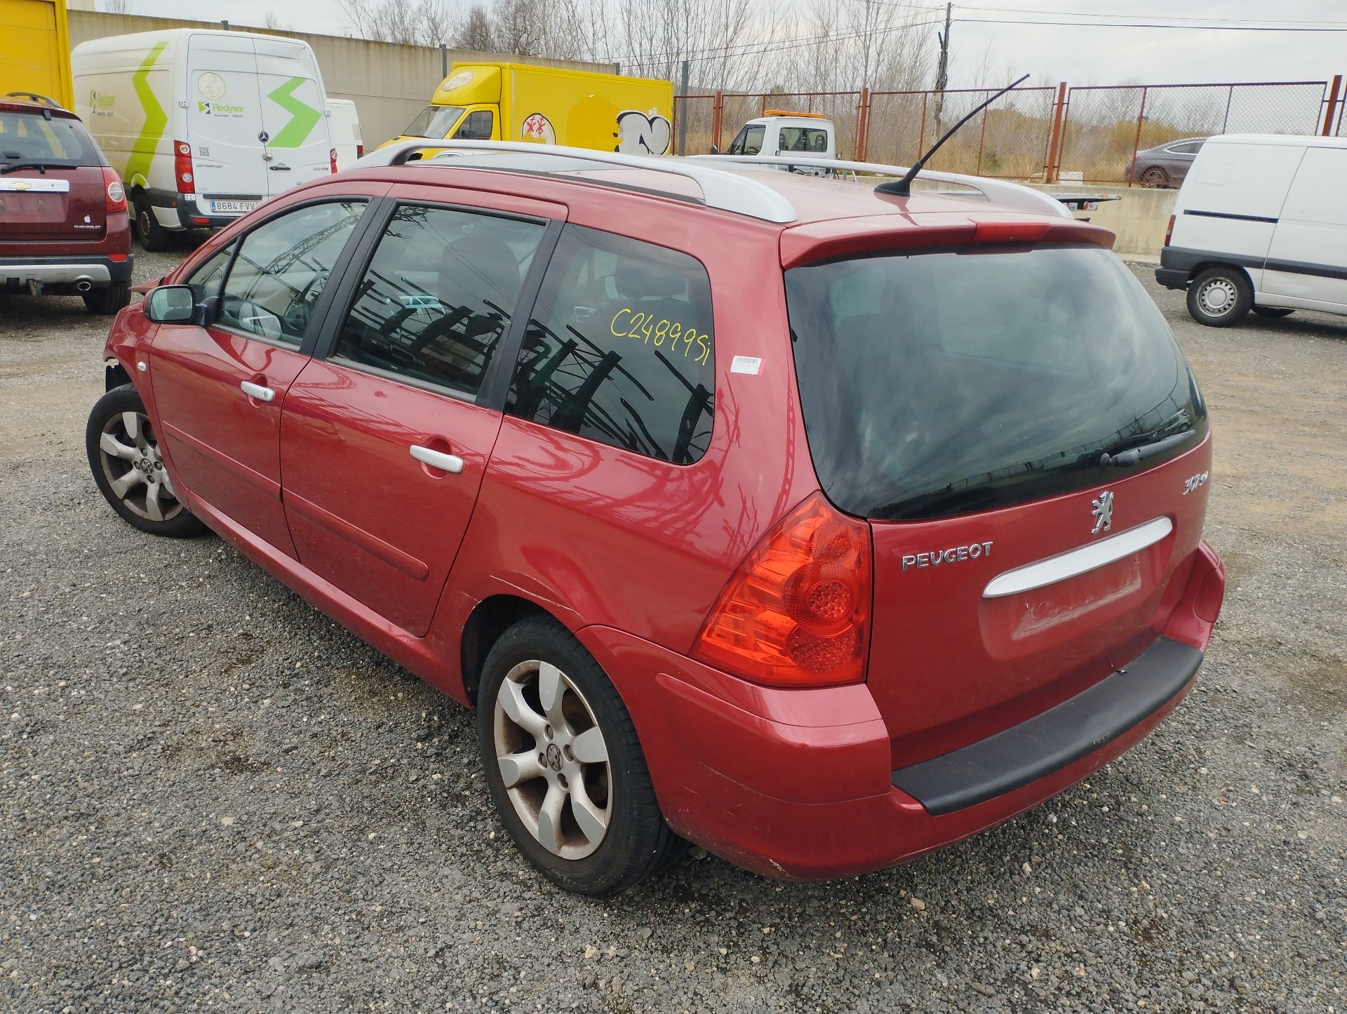
[[[621,696],[552,617],[527,617],[492,646],[477,741],[501,823],[556,886],[616,894],[680,852]]]

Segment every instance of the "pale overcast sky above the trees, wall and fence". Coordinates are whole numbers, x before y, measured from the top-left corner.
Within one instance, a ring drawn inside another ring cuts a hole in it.
[[[938,0],[870,0],[927,8]],[[865,3],[865,0],[836,0]],[[101,5],[101,4],[100,4]],[[337,0],[131,0],[132,13],[260,26],[273,11],[280,27],[350,34]],[[982,24],[971,19],[1071,20],[1060,13],[1113,15],[1118,20],[1214,19],[1220,22],[1335,22],[1344,31],[1189,31],[1051,24]],[[968,0],[955,4],[950,86],[983,83],[1021,73],[1074,85],[1325,79],[1347,73],[1347,0]],[[935,31],[928,30],[935,44]]]

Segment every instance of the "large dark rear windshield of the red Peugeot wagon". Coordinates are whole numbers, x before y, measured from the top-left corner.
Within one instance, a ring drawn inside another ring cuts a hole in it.
[[[1020,504],[1150,467],[1206,432],[1168,325],[1109,250],[839,260],[792,268],[785,291],[814,466],[849,513]],[[1160,440],[1142,465],[1100,463]]]

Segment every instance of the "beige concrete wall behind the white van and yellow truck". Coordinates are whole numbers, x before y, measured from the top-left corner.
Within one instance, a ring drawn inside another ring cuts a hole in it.
[[[350,98],[356,102],[366,151],[401,133],[403,128],[430,104],[431,93],[443,79],[440,50],[430,46],[403,46],[391,42],[348,39],[339,35],[272,31],[242,24],[230,27],[264,35],[284,35],[291,39],[302,39],[313,46],[327,94],[331,98]],[[70,9],[71,47],[108,35],[128,35],[166,28],[220,28],[220,22],[183,22],[174,18],[100,13],[78,11],[73,7]],[[581,63],[537,57],[509,57],[500,53],[449,50],[449,62],[459,61],[512,61],[550,67],[613,71],[610,63]]]

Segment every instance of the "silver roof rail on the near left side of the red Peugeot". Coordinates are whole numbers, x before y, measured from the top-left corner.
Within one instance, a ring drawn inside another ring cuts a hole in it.
[[[374,168],[380,166],[401,166],[414,152],[467,152],[467,154],[520,154],[541,158],[582,160],[601,166],[640,168],[652,172],[668,172],[691,179],[702,187],[702,198],[707,207],[735,214],[761,218],[766,222],[793,222],[799,218],[795,207],[781,194],[765,183],[738,172],[704,166],[692,159],[665,158],[660,155],[622,155],[612,151],[591,151],[589,148],[567,148],[558,144],[533,144],[528,141],[462,141],[462,140],[408,140],[389,144],[372,151],[352,163],[352,170]],[[572,167],[574,168],[574,167]],[[558,166],[558,172],[566,171]],[[679,194],[679,197],[684,197]]]

